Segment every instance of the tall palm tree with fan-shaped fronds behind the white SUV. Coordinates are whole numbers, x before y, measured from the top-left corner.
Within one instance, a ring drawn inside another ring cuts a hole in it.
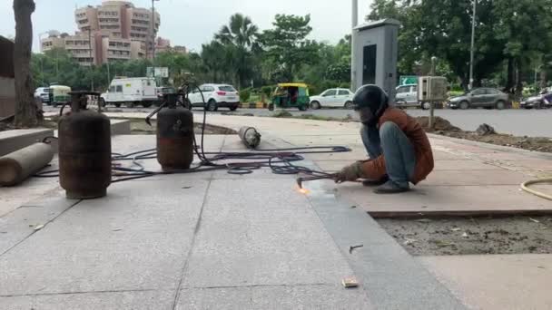
[[[251,22],[249,16],[235,14],[230,17],[230,24],[223,25],[215,40],[232,51],[234,61],[232,72],[237,74],[238,88],[251,77],[251,49],[257,44],[259,27]]]

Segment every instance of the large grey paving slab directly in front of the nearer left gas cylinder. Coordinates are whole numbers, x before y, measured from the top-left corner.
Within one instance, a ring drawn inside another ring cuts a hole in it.
[[[127,182],[0,257],[0,295],[174,289],[208,182]]]

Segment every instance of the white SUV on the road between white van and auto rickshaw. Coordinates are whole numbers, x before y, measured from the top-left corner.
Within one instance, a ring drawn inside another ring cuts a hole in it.
[[[236,111],[240,106],[240,94],[232,85],[202,84],[199,88],[202,92],[196,88],[188,94],[192,108],[202,107],[207,111],[229,108],[230,111]]]

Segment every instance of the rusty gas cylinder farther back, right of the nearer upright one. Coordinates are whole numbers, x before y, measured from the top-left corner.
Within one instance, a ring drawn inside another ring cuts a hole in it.
[[[165,171],[190,169],[193,161],[193,114],[177,105],[177,94],[165,95],[157,114],[157,161]]]

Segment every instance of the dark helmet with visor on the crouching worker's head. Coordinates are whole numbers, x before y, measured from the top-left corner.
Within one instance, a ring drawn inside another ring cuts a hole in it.
[[[355,92],[352,102],[355,111],[362,110],[360,121],[367,126],[375,126],[389,107],[389,96],[380,86],[364,85]]]

